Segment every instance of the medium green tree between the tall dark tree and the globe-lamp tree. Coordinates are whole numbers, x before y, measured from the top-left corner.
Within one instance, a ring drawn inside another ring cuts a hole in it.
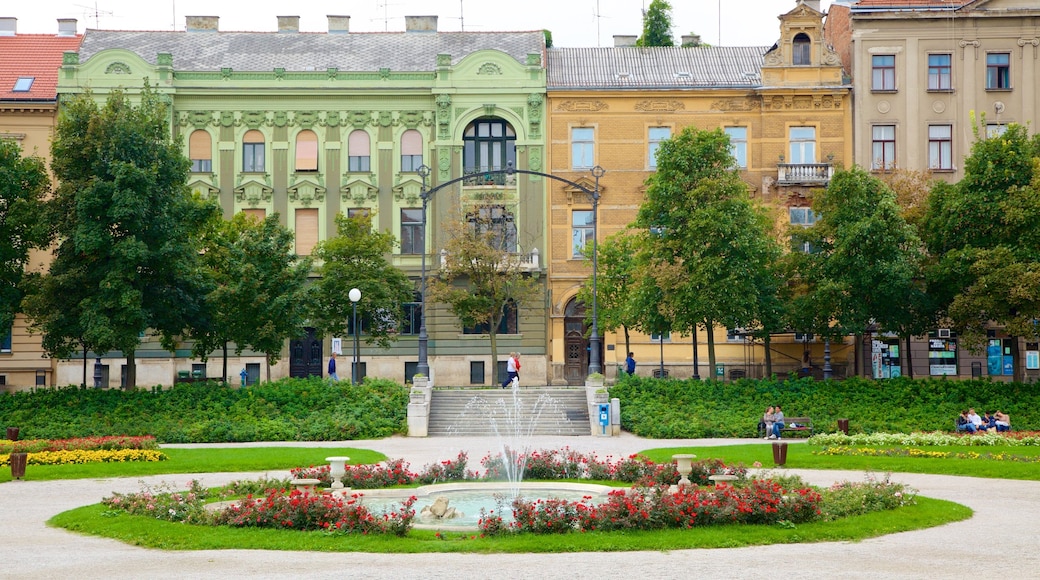
[[[278,362],[285,340],[303,333],[307,275],[311,261],[292,252],[293,235],[278,214],[257,220],[237,213],[230,220],[214,215],[203,242],[203,264],[211,281],[206,314],[191,324],[192,354],[206,360],[219,348],[228,376],[228,346],[245,348]],[[268,376],[269,378],[269,376]]]

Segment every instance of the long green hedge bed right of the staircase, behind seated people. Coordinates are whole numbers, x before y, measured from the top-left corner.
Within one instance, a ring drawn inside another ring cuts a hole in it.
[[[1017,430],[1040,429],[1040,385],[942,378],[867,380],[740,379],[678,380],[623,377],[610,388],[621,399],[621,425],[642,437],[755,437],[766,406],[787,417],[811,417],[817,432],[837,430],[849,419],[852,432],[953,430],[968,406],[1000,410]]]

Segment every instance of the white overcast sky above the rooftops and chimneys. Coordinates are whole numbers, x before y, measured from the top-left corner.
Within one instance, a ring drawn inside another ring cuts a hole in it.
[[[557,47],[612,46],[614,34],[639,34],[650,0],[4,0],[0,17],[19,32],[57,31],[57,19],[86,28],[183,30],[185,16],[218,16],[220,30],[275,31],[279,16],[298,16],[306,32],[328,30],[328,15],[349,16],[356,32],[400,31],[405,16],[438,16],[442,31],[552,31]],[[823,0],[826,7],[831,0]],[[673,35],[691,32],[712,45],[765,46],[779,36],[777,17],[795,0],[672,0]],[[720,8],[722,14],[720,15]],[[720,36],[722,41],[720,42]]]

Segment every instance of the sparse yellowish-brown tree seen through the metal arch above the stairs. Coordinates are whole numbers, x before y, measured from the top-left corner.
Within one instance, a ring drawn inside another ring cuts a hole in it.
[[[445,227],[446,261],[431,281],[433,301],[446,304],[465,327],[487,331],[492,364],[498,361],[498,327],[509,311],[541,295],[524,268],[513,215],[491,200],[469,208]]]

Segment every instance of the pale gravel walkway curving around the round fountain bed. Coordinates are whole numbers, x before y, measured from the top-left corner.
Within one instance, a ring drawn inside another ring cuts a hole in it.
[[[732,445],[753,440],[644,440],[534,438],[534,449],[570,446],[618,457],[655,447]],[[758,443],[764,444],[758,440]],[[256,446],[270,446],[269,443]],[[475,465],[499,448],[484,438],[391,438],[337,443],[279,445],[363,447],[402,457],[413,469],[469,452]],[[173,447],[173,446],[171,446]],[[762,463],[772,459],[766,445]],[[30,468],[31,469],[31,466]],[[860,472],[799,471],[806,480],[829,484],[861,480]],[[261,474],[205,474],[205,485]],[[286,472],[268,475],[285,477]],[[859,543],[792,544],[757,548],[592,554],[361,554],[272,551],[166,552],[50,528],[52,516],[97,503],[113,491],[136,492],[141,482],[183,486],[192,476],[10,481],[0,484],[0,578],[936,578],[986,576],[1040,578],[1040,481],[1012,481],[896,474],[921,495],[971,507],[973,518],[927,530]],[[797,530],[791,532],[797,533]],[[988,572],[987,572],[988,571]]]

